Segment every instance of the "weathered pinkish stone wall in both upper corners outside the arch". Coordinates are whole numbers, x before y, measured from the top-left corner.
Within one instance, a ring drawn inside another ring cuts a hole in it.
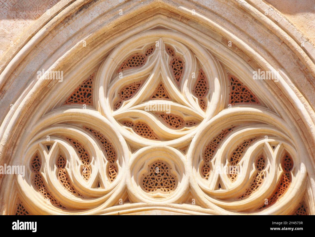
[[[19,36],[27,27],[59,1],[26,0],[28,4],[22,4],[19,0],[0,0],[0,58],[10,45],[19,40]],[[315,44],[315,0],[267,0],[266,2],[285,15]]]

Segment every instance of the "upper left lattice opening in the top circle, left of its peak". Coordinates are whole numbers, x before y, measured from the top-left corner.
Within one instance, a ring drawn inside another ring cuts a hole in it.
[[[135,68],[140,67],[144,65],[147,61],[148,56],[150,56],[155,50],[155,46],[152,45],[151,47],[146,49],[146,52],[143,53],[135,53],[130,55],[125,59],[125,61],[122,62],[122,64],[119,66],[117,72],[122,72],[123,70],[129,69],[129,68]]]

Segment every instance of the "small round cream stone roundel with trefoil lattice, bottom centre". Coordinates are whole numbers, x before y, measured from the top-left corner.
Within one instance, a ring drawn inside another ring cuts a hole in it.
[[[137,151],[130,161],[131,196],[143,202],[176,202],[186,192],[187,167],[180,151],[149,146]]]

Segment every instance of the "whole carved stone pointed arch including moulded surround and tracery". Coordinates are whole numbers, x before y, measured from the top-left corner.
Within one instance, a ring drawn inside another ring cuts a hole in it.
[[[83,2],[3,57],[3,214],[315,214],[314,47],[284,17]]]

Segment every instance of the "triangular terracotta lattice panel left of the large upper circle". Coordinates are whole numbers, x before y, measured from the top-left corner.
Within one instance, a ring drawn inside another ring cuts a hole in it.
[[[72,94],[66,99],[64,104],[88,104],[93,105],[93,84],[95,73],[82,82]]]

